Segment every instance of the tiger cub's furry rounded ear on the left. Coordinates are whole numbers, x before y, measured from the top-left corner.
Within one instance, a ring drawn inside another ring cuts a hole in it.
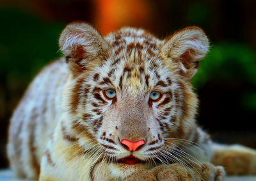
[[[75,76],[86,70],[88,63],[102,58],[108,50],[106,40],[84,22],[68,24],[61,33],[59,44],[68,67]]]

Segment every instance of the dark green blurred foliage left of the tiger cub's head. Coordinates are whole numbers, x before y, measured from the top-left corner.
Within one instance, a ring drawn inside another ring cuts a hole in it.
[[[0,11],[0,75],[31,80],[47,62],[58,58],[63,24],[45,22],[20,10]]]

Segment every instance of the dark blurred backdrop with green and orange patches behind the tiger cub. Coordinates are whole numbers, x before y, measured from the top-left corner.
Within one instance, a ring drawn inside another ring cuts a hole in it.
[[[13,109],[29,82],[61,56],[58,38],[73,20],[102,35],[122,26],[145,28],[159,38],[199,26],[211,51],[193,78],[200,98],[198,122],[220,143],[256,148],[256,1],[250,0],[1,0],[0,168]]]

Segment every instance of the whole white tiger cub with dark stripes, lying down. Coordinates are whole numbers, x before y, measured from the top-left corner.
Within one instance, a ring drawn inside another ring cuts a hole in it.
[[[73,22],[60,49],[65,58],[36,76],[12,116],[8,157],[18,177],[223,180],[222,166],[256,173],[255,150],[216,145],[196,125],[190,81],[209,50],[202,29],[164,40],[135,28],[103,37]]]

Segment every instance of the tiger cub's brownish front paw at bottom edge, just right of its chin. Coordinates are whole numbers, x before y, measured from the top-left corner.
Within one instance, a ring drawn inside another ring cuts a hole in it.
[[[210,163],[191,167],[175,163],[168,166],[158,166],[152,170],[152,173],[158,181],[221,181],[225,176],[225,171],[221,166],[214,166]]]

